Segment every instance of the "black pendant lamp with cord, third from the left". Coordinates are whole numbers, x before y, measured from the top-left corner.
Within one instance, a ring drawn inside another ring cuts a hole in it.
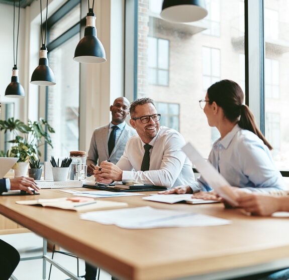
[[[97,37],[95,28],[95,14],[93,13],[94,0],[92,8],[89,8],[86,15],[86,26],[84,37],[79,41],[74,52],[73,60],[80,63],[103,63],[106,62],[106,51],[102,42]]]

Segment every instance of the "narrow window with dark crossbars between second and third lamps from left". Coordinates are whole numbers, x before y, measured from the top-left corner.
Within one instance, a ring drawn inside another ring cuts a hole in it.
[[[56,85],[47,88],[46,117],[55,133],[46,159],[79,149],[79,64],[72,59],[80,39],[79,2],[68,1],[48,19],[48,58]]]

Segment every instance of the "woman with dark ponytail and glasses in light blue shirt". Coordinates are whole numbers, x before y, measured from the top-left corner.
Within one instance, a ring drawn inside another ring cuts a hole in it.
[[[284,182],[269,151],[272,146],[256,126],[252,112],[243,101],[241,87],[231,80],[213,84],[205,99],[200,100],[200,104],[205,103],[204,113],[209,125],[216,126],[221,134],[208,160],[237,191],[273,193],[283,190]],[[162,193],[211,190],[200,177],[190,186],[178,186]]]

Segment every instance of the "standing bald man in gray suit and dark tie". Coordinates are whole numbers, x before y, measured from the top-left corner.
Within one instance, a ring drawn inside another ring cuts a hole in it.
[[[94,166],[103,161],[116,164],[124,153],[128,139],[136,134],[125,119],[129,114],[130,102],[125,97],[118,97],[110,106],[112,121],[95,128],[87,154],[87,174],[93,175]]]

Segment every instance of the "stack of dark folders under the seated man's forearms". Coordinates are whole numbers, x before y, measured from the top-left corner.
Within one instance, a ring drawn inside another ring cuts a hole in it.
[[[83,187],[102,190],[102,191],[110,191],[110,192],[148,192],[148,191],[165,191],[166,187],[163,186],[155,186],[148,184],[102,184],[98,182],[92,181],[83,181]]]

